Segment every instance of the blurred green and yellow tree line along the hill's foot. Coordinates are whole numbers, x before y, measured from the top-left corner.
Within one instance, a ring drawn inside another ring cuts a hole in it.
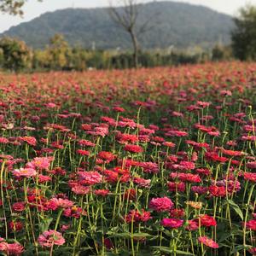
[[[141,67],[170,66],[205,61],[222,61],[231,58],[230,49],[216,46],[212,51],[195,53],[182,50],[139,51]],[[15,38],[0,39],[0,68],[11,72],[84,71],[95,69],[123,69],[134,67],[133,52],[83,49],[71,47],[57,34],[50,38],[45,49],[31,49]]]

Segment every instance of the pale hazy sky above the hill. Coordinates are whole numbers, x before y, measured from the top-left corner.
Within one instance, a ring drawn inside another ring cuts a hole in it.
[[[113,0],[114,2],[117,3],[119,0]],[[141,0],[141,2],[150,1]],[[155,2],[160,2],[160,0]],[[246,3],[256,4],[256,0],[176,0],[175,2],[201,4],[229,15],[236,15],[237,9]],[[92,8],[102,6],[108,6],[108,0],[44,0],[43,3],[38,3],[37,0],[28,0],[24,7],[25,15],[23,18],[0,14],[0,32],[9,29],[10,26],[18,25],[20,22],[32,20],[47,11],[70,7]]]

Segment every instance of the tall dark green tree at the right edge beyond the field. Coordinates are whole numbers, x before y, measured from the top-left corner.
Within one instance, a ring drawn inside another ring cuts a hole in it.
[[[256,60],[256,6],[247,5],[240,9],[232,32],[234,55],[241,61]]]

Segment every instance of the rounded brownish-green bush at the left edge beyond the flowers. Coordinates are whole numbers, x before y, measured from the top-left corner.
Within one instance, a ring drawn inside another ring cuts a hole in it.
[[[32,51],[24,42],[15,38],[2,38],[0,40],[0,50],[3,68],[19,72],[31,67]]]

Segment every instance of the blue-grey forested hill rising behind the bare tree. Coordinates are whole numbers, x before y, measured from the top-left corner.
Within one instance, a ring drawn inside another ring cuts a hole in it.
[[[141,5],[139,23],[152,18],[153,27],[143,33],[143,48],[177,48],[201,45],[209,47],[221,40],[230,42],[232,17],[189,3],[157,2]],[[45,13],[29,22],[13,26],[0,37],[20,38],[34,48],[42,48],[55,33],[61,33],[74,45],[97,49],[128,49],[131,40],[108,15],[107,8],[61,9]]]

